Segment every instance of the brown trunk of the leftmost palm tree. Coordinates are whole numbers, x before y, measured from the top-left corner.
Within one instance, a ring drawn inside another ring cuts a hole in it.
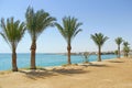
[[[15,47],[12,46],[12,72],[18,72]]]

